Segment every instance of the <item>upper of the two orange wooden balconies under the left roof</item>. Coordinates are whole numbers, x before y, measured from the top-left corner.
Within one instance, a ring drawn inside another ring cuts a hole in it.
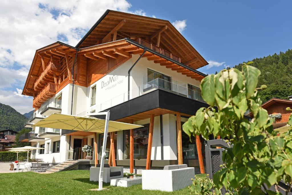
[[[41,73],[41,75],[36,79],[34,82],[34,90],[35,91],[40,91],[41,90],[41,83],[44,83],[44,79],[46,79],[46,76],[49,73],[55,73],[56,75],[60,74],[61,66],[60,63],[52,62],[50,61],[45,68],[45,70]]]

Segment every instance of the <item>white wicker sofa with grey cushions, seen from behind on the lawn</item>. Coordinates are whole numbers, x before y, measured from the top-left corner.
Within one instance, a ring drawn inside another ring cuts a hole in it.
[[[163,170],[142,170],[142,189],[175,191],[192,184],[195,168],[183,165],[166,165]]]

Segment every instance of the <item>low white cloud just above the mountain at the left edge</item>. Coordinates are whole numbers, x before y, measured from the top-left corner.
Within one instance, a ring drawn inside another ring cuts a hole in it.
[[[13,91],[4,91],[0,89],[0,102],[13,107],[21,114],[33,110],[32,97],[18,96],[15,95]]]

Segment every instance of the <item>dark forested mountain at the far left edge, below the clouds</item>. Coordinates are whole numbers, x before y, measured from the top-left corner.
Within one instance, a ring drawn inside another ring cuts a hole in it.
[[[27,118],[11,106],[0,103],[0,130],[20,131]]]

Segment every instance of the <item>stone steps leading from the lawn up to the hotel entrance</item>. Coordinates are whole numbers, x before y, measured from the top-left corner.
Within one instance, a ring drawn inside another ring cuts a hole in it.
[[[59,171],[71,170],[73,168],[76,168],[80,164],[89,164],[89,160],[79,159],[79,160],[64,161],[46,170],[46,172],[54,173],[54,172],[59,172]]]

